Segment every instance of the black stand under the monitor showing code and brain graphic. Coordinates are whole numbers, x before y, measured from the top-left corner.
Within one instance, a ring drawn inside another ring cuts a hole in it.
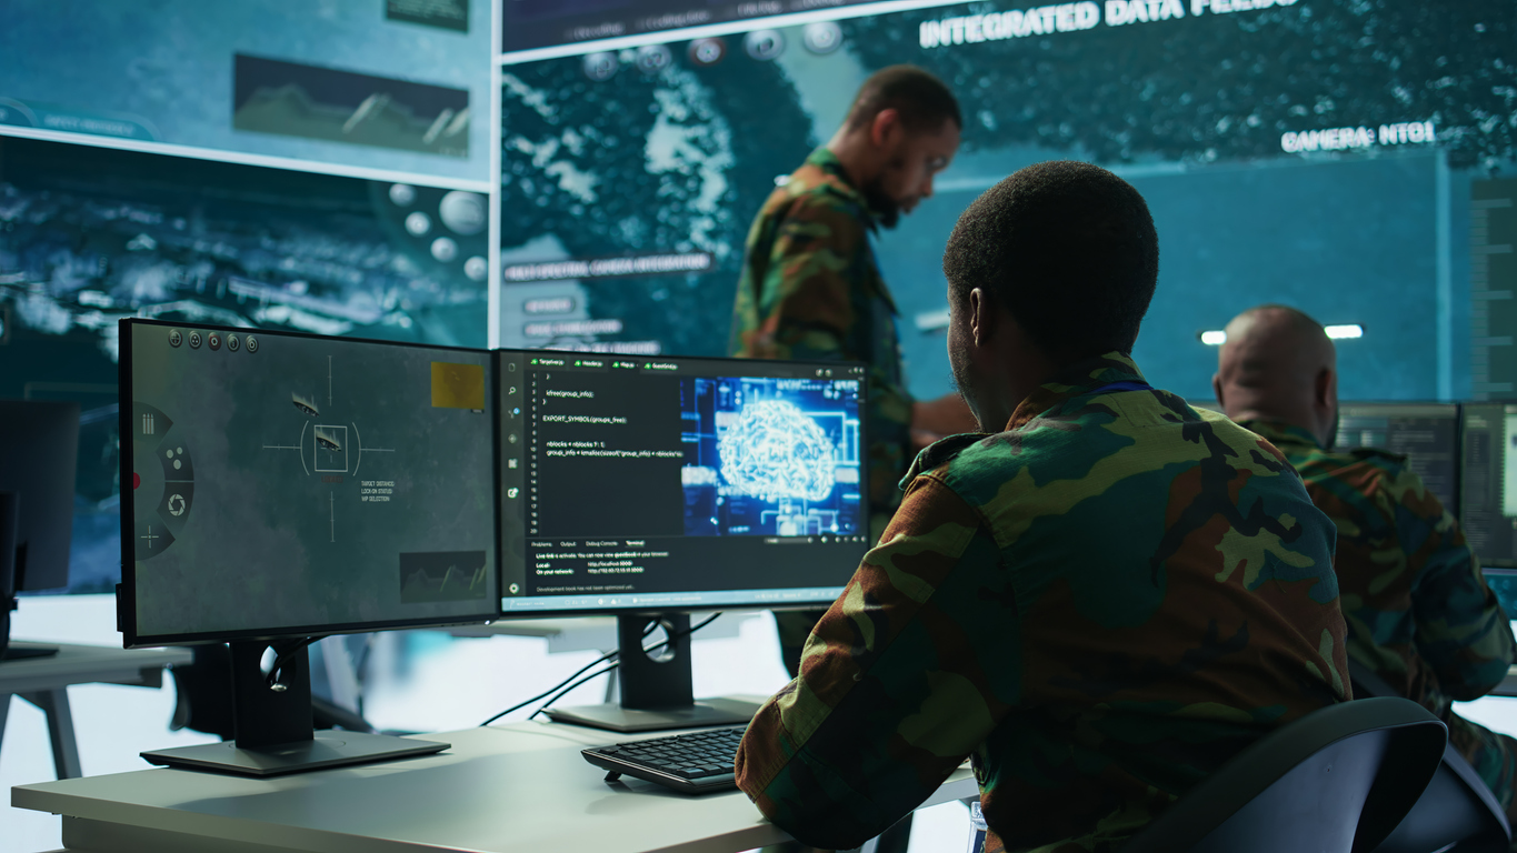
[[[643,635],[649,623],[669,635],[666,648],[648,655]],[[616,617],[620,705],[549,708],[554,723],[572,723],[611,732],[663,732],[701,726],[746,726],[758,705],[737,698],[695,700],[690,674],[690,615]]]

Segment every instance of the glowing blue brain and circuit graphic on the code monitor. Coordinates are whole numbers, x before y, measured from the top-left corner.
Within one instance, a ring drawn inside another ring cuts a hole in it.
[[[687,536],[853,536],[863,529],[859,380],[687,379]]]

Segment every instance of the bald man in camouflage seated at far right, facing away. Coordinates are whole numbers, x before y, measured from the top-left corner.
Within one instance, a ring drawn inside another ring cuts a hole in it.
[[[1449,724],[1449,741],[1509,818],[1517,741],[1470,723],[1452,701],[1494,689],[1512,662],[1511,623],[1459,523],[1405,456],[1333,451],[1336,353],[1323,327],[1265,305],[1227,324],[1212,388],[1227,417],[1270,439],[1338,526],[1338,589],[1349,658]]]

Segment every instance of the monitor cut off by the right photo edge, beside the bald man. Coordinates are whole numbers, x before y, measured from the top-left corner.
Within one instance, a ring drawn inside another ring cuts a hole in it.
[[[1517,568],[1517,403],[1462,409],[1459,524],[1481,565]]]

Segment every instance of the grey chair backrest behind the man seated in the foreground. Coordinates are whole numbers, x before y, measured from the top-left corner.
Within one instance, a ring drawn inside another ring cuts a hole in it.
[[[1233,756],[1123,853],[1368,853],[1417,803],[1446,742],[1406,698],[1323,708]]]

